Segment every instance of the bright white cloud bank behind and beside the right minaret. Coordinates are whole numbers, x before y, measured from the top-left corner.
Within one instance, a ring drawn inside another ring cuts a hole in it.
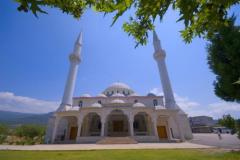
[[[150,92],[156,95],[163,95],[163,92],[159,88],[153,88]],[[177,104],[189,116],[207,115],[220,118],[224,114],[231,114],[235,118],[240,118],[240,104],[238,103],[219,101],[202,105],[199,102],[190,100],[188,97],[179,96],[178,94],[174,94],[174,97]]]

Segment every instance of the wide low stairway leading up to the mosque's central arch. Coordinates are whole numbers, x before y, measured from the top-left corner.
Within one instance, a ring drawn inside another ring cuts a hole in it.
[[[137,144],[138,142],[131,137],[105,137],[97,144]]]

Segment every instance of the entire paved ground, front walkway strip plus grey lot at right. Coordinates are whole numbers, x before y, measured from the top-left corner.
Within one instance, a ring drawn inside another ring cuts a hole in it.
[[[103,149],[237,149],[240,140],[236,135],[193,134],[193,139],[182,143],[138,143],[138,144],[41,144],[41,145],[0,145],[0,150],[103,150]]]

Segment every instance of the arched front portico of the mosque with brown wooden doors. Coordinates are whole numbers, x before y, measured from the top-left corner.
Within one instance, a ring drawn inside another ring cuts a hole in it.
[[[180,139],[173,133],[174,125],[169,119],[172,113],[161,110],[156,113],[153,108],[102,107],[102,110],[81,112],[80,109],[68,114],[72,116],[58,113],[53,143],[96,143],[105,137],[131,137],[138,142]]]

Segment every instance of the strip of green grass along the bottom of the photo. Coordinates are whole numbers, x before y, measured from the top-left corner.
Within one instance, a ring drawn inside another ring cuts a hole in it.
[[[240,160],[223,150],[0,151],[0,160]]]

